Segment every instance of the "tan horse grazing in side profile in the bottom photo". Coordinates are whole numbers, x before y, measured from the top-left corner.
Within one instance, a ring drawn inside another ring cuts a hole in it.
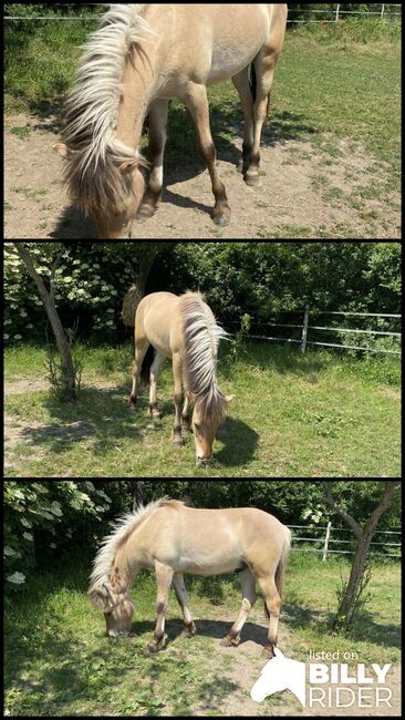
[[[191,638],[196,626],[183,574],[240,573],[242,605],[221,645],[239,645],[240,632],[257,599],[257,579],[269,618],[263,655],[272,658],[290,541],[289,528],[261,510],[200,510],[164,497],[146,507],[141,505],[116,522],[95,557],[89,597],[104,613],[106,635],[127,636],[134,615],[132,584],[142,568],[155,570],[157,617],[147,649],[158,652],[167,640],[165,616],[172,584],[184,616],[181,636]]]

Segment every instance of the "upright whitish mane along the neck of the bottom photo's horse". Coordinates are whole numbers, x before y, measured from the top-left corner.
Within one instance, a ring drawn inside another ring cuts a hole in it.
[[[170,506],[177,508],[184,503],[168,497],[160,497],[148,505],[139,504],[133,513],[126,513],[113,525],[113,532],[104,537],[95,556],[93,570],[90,576],[89,594],[94,593],[102,585],[110,586],[110,570],[115,555],[128,536],[158,507]]]

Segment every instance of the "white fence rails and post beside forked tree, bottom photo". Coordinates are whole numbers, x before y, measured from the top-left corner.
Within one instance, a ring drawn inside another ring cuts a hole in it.
[[[321,537],[307,537],[303,536],[301,537],[300,535],[292,535],[292,551],[301,551],[301,552],[307,552],[307,553],[322,553],[322,560],[325,562],[328,558],[328,555],[353,555],[352,549],[332,549],[330,546],[332,544],[342,544],[342,545],[351,545],[353,544],[353,539],[342,539],[342,538],[334,538],[332,535],[334,533],[351,533],[349,528],[342,528],[342,527],[332,527],[332,523],[328,523],[326,527],[312,527],[310,525],[289,525],[288,526],[290,529],[299,529],[299,531],[323,531],[324,535]],[[376,534],[378,535],[398,535],[398,539],[401,541],[401,531],[377,531]],[[388,537],[388,541],[391,538]],[[394,538],[393,538],[394,539]],[[294,544],[297,543],[320,543],[322,544],[321,548],[316,547],[294,547]],[[392,543],[392,542],[373,542],[371,543],[371,547],[402,547],[402,543]],[[401,549],[398,553],[378,553],[378,552],[373,552],[373,557],[391,557],[394,559],[401,559]]]

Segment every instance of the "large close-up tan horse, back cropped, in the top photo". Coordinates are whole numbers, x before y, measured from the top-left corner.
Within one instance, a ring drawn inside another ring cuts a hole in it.
[[[135,237],[135,216],[147,218],[157,210],[173,99],[195,122],[211,177],[212,219],[221,227],[229,224],[207,86],[232,79],[245,115],[238,169],[248,185],[259,185],[261,135],[287,13],[287,4],[277,3],[111,6],[85,45],[64,109],[63,142],[54,145],[66,160],[70,197],[93,215],[100,239]],[[149,163],[139,153],[147,115]]]

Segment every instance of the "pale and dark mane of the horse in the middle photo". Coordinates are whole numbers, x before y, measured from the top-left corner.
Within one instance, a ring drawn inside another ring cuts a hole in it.
[[[195,411],[201,421],[225,420],[227,400],[217,385],[219,340],[228,333],[219,325],[200,292],[180,297],[184,332],[184,374]]]

